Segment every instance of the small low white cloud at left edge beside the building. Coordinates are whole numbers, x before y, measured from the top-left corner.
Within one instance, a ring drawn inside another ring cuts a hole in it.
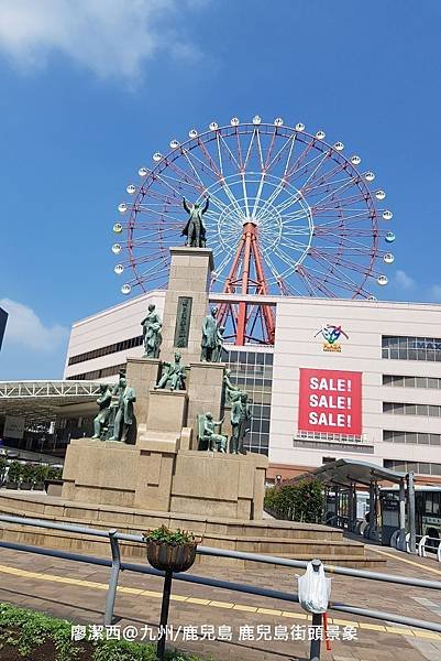
[[[9,314],[4,344],[13,343],[27,349],[38,351],[55,351],[68,336],[64,326],[45,326],[35,312],[10,299],[0,299],[0,307]]]

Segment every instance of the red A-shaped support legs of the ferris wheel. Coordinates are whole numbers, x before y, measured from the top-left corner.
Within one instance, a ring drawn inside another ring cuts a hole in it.
[[[255,274],[254,278],[253,274]],[[258,249],[257,227],[251,221],[245,223],[243,226],[242,238],[223,288],[225,294],[236,293],[238,291],[242,294],[262,295],[268,293]],[[222,304],[218,317],[220,324],[225,325],[229,316],[235,330],[234,343],[236,345],[242,346],[253,339],[253,330],[257,322],[260,322],[263,343],[274,344],[275,317],[271,306],[250,306],[245,301],[241,301],[238,305]]]

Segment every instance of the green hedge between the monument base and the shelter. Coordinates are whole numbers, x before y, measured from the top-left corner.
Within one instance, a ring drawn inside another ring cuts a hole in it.
[[[321,483],[317,478],[305,478],[271,487],[266,490],[264,507],[277,519],[319,523],[323,513]]]

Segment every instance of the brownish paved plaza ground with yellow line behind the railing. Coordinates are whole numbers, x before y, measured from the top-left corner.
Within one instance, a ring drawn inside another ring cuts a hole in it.
[[[399,554],[390,549],[375,552],[386,554],[384,572],[441,581],[441,567],[431,559]],[[234,571],[206,565],[192,567],[191,573],[297,590],[291,570]],[[0,549],[0,602],[38,609],[78,625],[100,625],[108,574],[109,570],[103,567]],[[134,626],[150,636],[148,627],[154,630],[158,624],[161,596],[161,577],[123,572],[115,604],[118,625],[121,629]],[[441,624],[441,595],[437,590],[333,576],[331,598]],[[309,658],[309,643],[291,640],[293,636],[301,638],[302,627],[308,625],[306,615],[294,603],[175,581],[169,621],[175,631],[181,627],[176,647],[216,661]],[[438,633],[332,610],[330,625],[334,630],[339,628],[340,636],[345,631],[348,638],[355,631],[356,639],[332,641],[332,651],[322,651],[324,660],[441,661],[441,635]],[[210,640],[213,631],[217,639]],[[184,632],[190,640],[183,640]],[[219,640],[219,636],[223,639]],[[288,640],[283,639],[286,636]]]

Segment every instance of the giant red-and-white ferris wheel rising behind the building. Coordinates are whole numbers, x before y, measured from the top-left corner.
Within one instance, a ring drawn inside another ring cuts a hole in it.
[[[386,194],[373,185],[374,173],[343,151],[322,130],[258,116],[211,122],[185,141],[172,140],[167,153],[153,154],[151,167],[140,167],[141,182],[126,187],[129,197],[118,206],[112,251],[122,293],[166,285],[169,248],[185,242],[183,198],[208,197],[212,291],[375,300],[394,262],[393,214],[378,207]],[[274,339],[267,305],[222,304],[219,314],[236,344]]]

